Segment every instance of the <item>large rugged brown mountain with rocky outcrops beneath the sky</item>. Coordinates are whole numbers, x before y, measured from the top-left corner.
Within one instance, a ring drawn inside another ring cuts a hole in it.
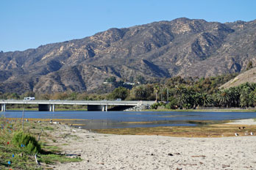
[[[0,92],[77,92],[104,78],[207,77],[256,63],[256,21],[178,18],[0,53]]]

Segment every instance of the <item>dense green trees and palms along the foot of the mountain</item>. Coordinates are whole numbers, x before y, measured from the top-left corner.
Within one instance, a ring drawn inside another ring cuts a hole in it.
[[[135,84],[131,88],[124,86],[122,82],[111,83],[118,85],[112,92],[106,94],[88,94],[78,92],[63,92],[54,94],[35,94],[26,92],[23,95],[17,93],[1,94],[2,99],[22,99],[27,96],[35,96],[42,100],[157,100],[152,108],[165,106],[166,108],[198,108],[198,107],[255,107],[256,84],[241,84],[230,89],[219,87],[234,78],[235,74],[218,75],[209,78],[181,78],[174,77],[160,81],[160,83]],[[111,84],[111,85],[112,85]],[[110,84],[104,85],[110,86]],[[160,102],[159,102],[160,101]]]

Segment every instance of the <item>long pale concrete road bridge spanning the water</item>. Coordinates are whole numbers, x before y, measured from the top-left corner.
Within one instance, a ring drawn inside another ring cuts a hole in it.
[[[108,106],[151,106],[154,101],[119,101],[119,100],[0,100],[1,111],[6,111],[8,104],[38,105],[38,111],[54,111],[56,105],[83,105],[88,111],[107,111]]]

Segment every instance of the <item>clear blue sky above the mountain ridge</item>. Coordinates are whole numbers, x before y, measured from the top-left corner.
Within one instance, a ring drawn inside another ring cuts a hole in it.
[[[256,19],[255,0],[1,0],[0,51],[24,51],[88,37],[110,28],[205,19]]]

